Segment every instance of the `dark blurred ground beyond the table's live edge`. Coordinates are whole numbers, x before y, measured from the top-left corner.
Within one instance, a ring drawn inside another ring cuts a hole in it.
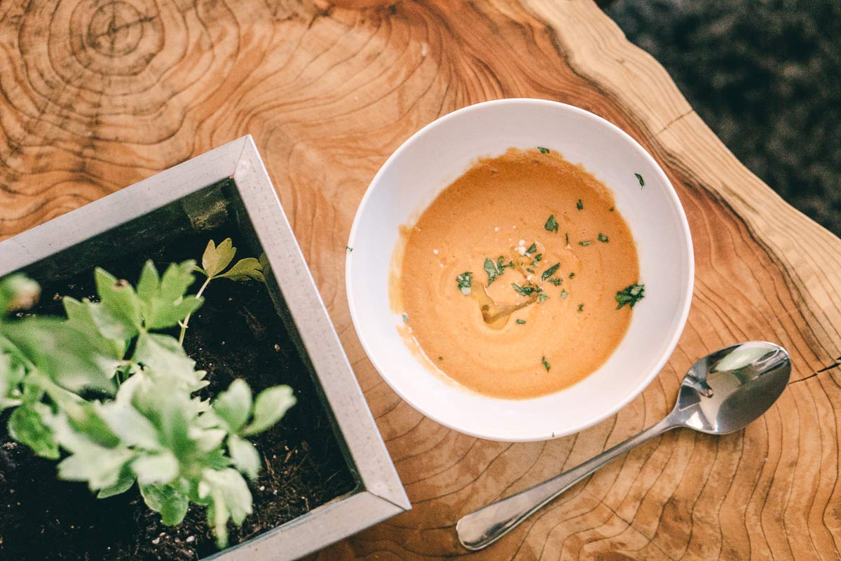
[[[841,0],[602,7],[739,160],[841,235]]]

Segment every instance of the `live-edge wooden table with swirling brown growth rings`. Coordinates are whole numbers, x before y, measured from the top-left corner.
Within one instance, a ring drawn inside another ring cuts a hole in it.
[[[0,91],[0,238],[254,135],[414,504],[320,561],[467,556],[460,516],[658,420],[697,357],[748,339],[793,360],[764,418],[648,442],[471,558],[838,558],[841,241],[748,172],[594,3],[3,0]],[[385,158],[439,115],[505,97],[627,130],[695,241],[669,365],[609,421],[552,442],[479,441],[412,410],[366,359],[345,298],[342,246]]]

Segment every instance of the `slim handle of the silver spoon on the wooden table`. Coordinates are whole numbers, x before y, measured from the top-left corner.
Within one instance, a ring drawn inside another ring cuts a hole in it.
[[[580,479],[584,479],[612,459],[628,452],[632,447],[642,444],[649,438],[656,437],[675,426],[678,425],[675,425],[669,417],[666,417],[656,425],[649,426],[637,436],[628,438],[627,441],[617,444],[595,458],[563,472],[563,474],[463,516],[456,524],[458,541],[462,542],[465,548],[473,551],[488,547],[500,537],[505,536],[521,521],[532,516],[532,513],[542,505],[546,505],[547,502],[568,490],[573,484],[578,483]]]

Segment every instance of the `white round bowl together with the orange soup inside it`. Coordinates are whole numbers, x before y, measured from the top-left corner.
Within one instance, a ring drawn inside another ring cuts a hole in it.
[[[559,437],[626,405],[688,314],[674,189],[624,132],[536,99],[447,114],[362,198],[346,285],[362,346],[431,419],[476,437]]]

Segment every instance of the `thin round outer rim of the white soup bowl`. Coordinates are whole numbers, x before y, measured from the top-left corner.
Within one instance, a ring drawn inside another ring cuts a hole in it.
[[[460,426],[456,426],[456,424],[452,423],[452,421],[448,419],[441,418],[438,415],[431,415],[426,410],[424,410],[420,405],[418,405],[415,400],[412,399],[412,396],[404,394],[398,387],[395,387],[392,384],[392,381],[389,379],[389,376],[384,373],[384,369],[378,363],[378,358],[376,354],[373,352],[373,345],[370,344],[367,337],[365,336],[364,332],[361,329],[361,325],[359,322],[359,318],[357,315],[357,305],[356,299],[354,296],[354,289],[353,289],[353,280],[352,280],[352,252],[346,251],[345,256],[345,288],[346,288],[346,298],[348,309],[351,313],[351,320],[353,323],[354,331],[356,331],[357,338],[359,339],[360,344],[362,345],[362,350],[365,352],[366,357],[368,360],[371,361],[373,368],[377,370],[380,375],[380,378],[383,378],[386,384],[389,384],[389,387],[394,390],[394,393],[398,394],[401,400],[404,400],[406,403],[411,405],[411,407],[421,415],[424,415],[430,418],[432,421],[436,423],[446,426],[453,431],[461,432],[462,434],[466,434],[470,437],[477,437],[482,438],[484,440],[492,440],[492,441],[500,441],[500,442],[539,442],[539,441],[546,441],[552,440],[553,438],[560,438],[564,436],[569,436],[572,434],[576,434],[580,431],[584,431],[584,429],[589,428],[590,426],[594,426],[601,421],[605,421],[606,419],[610,418],[612,415],[616,415],[616,413],[621,410],[623,407],[628,405],[632,402],[632,400],[637,398],[637,395],[642,394],[643,391],[651,384],[654,378],[657,378],[657,375],[663,370],[666,363],[669,362],[669,358],[674,354],[674,349],[678,345],[678,341],[680,341],[680,336],[683,335],[686,326],[686,320],[689,318],[689,311],[692,304],[692,296],[693,296],[693,289],[695,287],[695,252],[693,250],[692,245],[692,235],[689,227],[689,221],[686,219],[686,213],[683,208],[683,205],[680,203],[680,198],[678,197],[677,191],[674,189],[674,185],[672,185],[671,181],[669,181],[669,177],[664,172],[663,168],[660,167],[659,163],[654,159],[651,154],[639,143],[636,139],[634,139],[631,135],[628,135],[627,132],[621,130],[616,124],[611,123],[609,120],[600,117],[595,113],[591,113],[586,109],[576,107],[574,105],[570,105],[569,103],[562,103],[558,101],[553,101],[550,99],[542,99],[542,98],[502,98],[502,99],[493,99],[489,101],[473,103],[471,105],[467,105],[463,108],[458,108],[455,111],[452,111],[448,114],[444,114],[430,123],[421,127],[421,129],[415,131],[408,139],[406,139],[392,154],[383,162],[383,165],[379,168],[378,172],[374,175],[371,179],[371,182],[368,183],[368,188],[365,189],[365,193],[362,195],[362,199],[359,202],[359,206],[357,207],[357,212],[354,215],[353,223],[351,226],[350,234],[348,235],[347,246],[353,247],[354,242],[357,237],[357,230],[359,225],[362,221],[362,214],[364,214],[365,209],[368,206],[369,200],[373,197],[373,192],[375,191],[375,186],[378,184],[380,177],[386,172],[386,170],[393,164],[395,160],[399,158],[403,154],[404,151],[410,150],[411,146],[417,142],[421,136],[425,135],[427,131],[439,126],[440,124],[455,119],[458,116],[463,114],[473,113],[474,111],[482,111],[485,108],[489,107],[496,107],[496,106],[506,106],[506,105],[521,105],[521,104],[535,104],[535,105],[542,105],[545,107],[551,108],[559,108],[565,111],[569,111],[575,114],[579,114],[580,116],[584,117],[585,119],[594,120],[596,123],[600,124],[601,126],[606,126],[607,130],[610,130],[613,134],[618,135],[622,140],[625,140],[632,148],[634,148],[640,156],[642,156],[645,160],[647,160],[656,171],[657,176],[659,179],[668,186],[665,189],[665,193],[669,198],[669,203],[672,204],[675,214],[677,215],[680,225],[682,227],[684,236],[685,236],[685,251],[687,255],[687,276],[686,276],[686,285],[685,285],[685,295],[682,302],[682,307],[680,309],[680,315],[678,316],[678,321],[675,324],[677,327],[674,329],[674,332],[671,335],[671,339],[669,340],[668,344],[664,347],[664,352],[659,357],[659,360],[655,364],[651,371],[644,377],[640,378],[639,383],[633,387],[631,391],[628,392],[628,395],[625,399],[617,401],[616,404],[609,406],[606,408],[605,412],[595,416],[592,419],[582,421],[579,423],[574,423],[573,426],[569,428],[568,431],[563,431],[558,434],[555,432],[552,433],[552,436],[544,436],[544,435],[537,435],[537,436],[526,436],[521,438],[512,438],[512,437],[505,437],[501,438],[499,435],[484,433],[482,431],[473,431],[468,430]],[[469,391],[469,390],[467,390]],[[501,398],[494,398],[487,396],[489,400],[501,400]],[[501,401],[514,401],[514,400],[501,400]],[[526,401],[526,400],[516,400],[516,401]]]

